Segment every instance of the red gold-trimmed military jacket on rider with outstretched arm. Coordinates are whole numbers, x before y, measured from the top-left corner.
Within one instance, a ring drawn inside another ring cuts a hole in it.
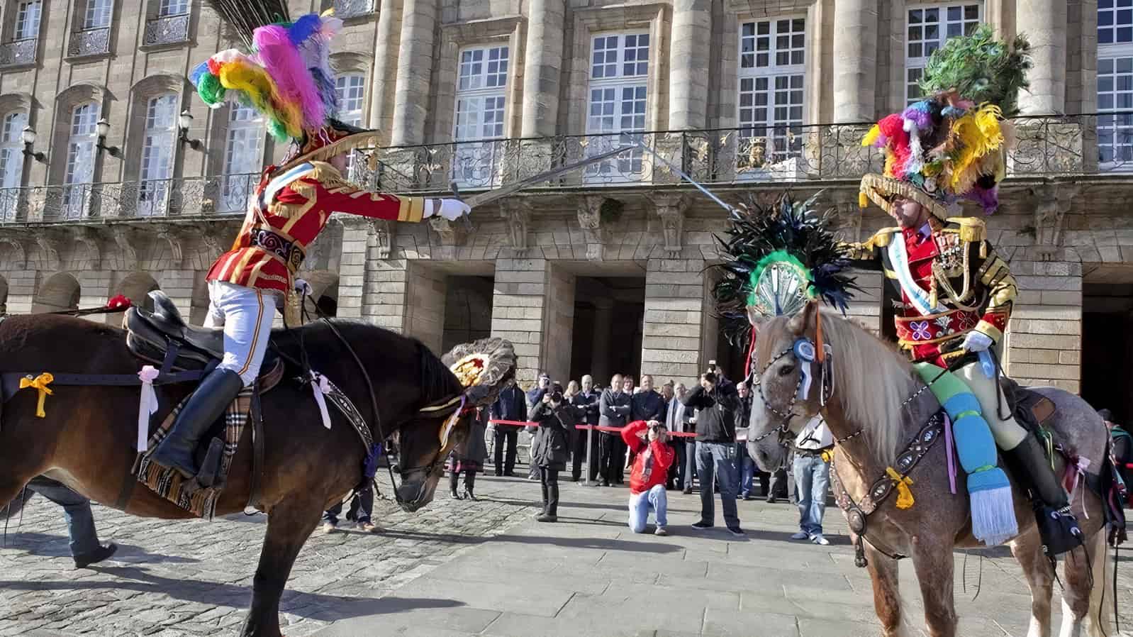
[[[272,178],[264,170],[232,248],[208,270],[208,281],[227,281],[288,295],[307,246],[332,212],[390,221],[421,220],[425,199],[370,193],[347,181],[333,165],[313,161]]]

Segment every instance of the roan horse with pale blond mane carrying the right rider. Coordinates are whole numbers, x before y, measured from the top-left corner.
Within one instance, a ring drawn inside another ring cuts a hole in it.
[[[799,360],[793,354],[778,358],[776,354],[789,350],[800,337],[815,341],[817,316],[817,304],[811,303],[793,317],[776,317],[758,328],[751,367],[761,392],[753,392],[749,440],[759,440],[749,443],[749,449],[765,468],[778,467],[784,457],[783,445],[772,435],[783,426],[784,419],[774,411],[786,413],[800,387]],[[939,409],[939,404],[930,391],[922,391],[909,400],[925,385],[904,356],[892,347],[833,312],[821,312],[821,329],[825,342],[833,349],[833,394],[825,407],[821,406],[817,387],[820,383],[813,383],[806,399],[795,401],[790,408],[795,417],[791,418],[787,428],[798,433],[810,417],[820,413],[840,441],[834,455],[834,469],[853,500],[862,502],[874,481],[885,475],[886,467],[894,465],[894,458],[917,435],[929,416]],[[1092,468],[1100,466],[1108,434],[1097,413],[1084,400],[1068,392],[1054,388],[1036,391],[1057,405],[1056,422],[1051,427],[1055,440],[1075,449],[1082,458],[1091,459]],[[863,435],[851,436],[859,431]],[[847,436],[847,440],[842,440]],[[962,470],[957,476],[956,493],[951,493],[946,453],[945,444],[935,444],[912,469],[911,490],[915,496],[912,508],[897,509],[896,496],[891,495],[868,518],[866,557],[874,581],[874,606],[886,637],[905,634],[897,592],[897,561],[886,557],[886,553],[912,558],[929,634],[932,637],[956,635],[953,551],[982,545],[971,535]],[[1057,469],[1062,475],[1065,467],[1060,458],[1059,462]],[[1049,637],[1055,574],[1042,553],[1026,498],[1017,483],[1013,481],[1013,485],[1019,535],[1008,544],[1031,588],[1028,637]],[[1060,636],[1079,637],[1087,623],[1090,625],[1089,635],[1101,636],[1104,627],[1108,626],[1108,605],[1101,604],[1106,557],[1104,506],[1084,484],[1071,495],[1074,513],[1087,540],[1084,549],[1075,549],[1063,558],[1065,589]],[[851,535],[857,542],[857,536]],[[1091,587],[1094,580],[1098,585]]]

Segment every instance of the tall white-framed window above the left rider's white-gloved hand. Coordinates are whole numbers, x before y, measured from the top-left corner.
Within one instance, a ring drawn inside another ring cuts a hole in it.
[[[457,118],[452,138],[457,148],[453,179],[463,186],[499,185],[497,143],[503,137],[508,48],[480,46],[460,52]]]

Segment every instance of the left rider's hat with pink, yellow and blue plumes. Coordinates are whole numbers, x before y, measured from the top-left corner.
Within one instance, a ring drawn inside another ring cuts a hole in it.
[[[210,2],[237,31],[247,52],[228,49],[198,65],[190,79],[201,99],[211,108],[236,100],[259,111],[276,141],[291,141],[281,169],[326,160],[376,138],[376,130],[335,119],[330,48],[342,20],[326,11],[291,22],[286,6],[264,2]]]

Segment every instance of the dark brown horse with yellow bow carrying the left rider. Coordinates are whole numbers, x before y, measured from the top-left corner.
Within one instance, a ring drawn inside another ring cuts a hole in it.
[[[451,409],[426,416],[419,409],[459,397],[465,389],[441,360],[418,341],[374,325],[335,321],[373,382],[380,419],[373,415],[369,388],[353,357],[329,325],[301,328],[310,367],[325,374],[357,406],[375,440],[393,438],[403,468],[397,487],[409,511],[433,499],[443,474],[441,460],[467,432],[466,415],[441,448],[440,431]],[[276,331],[281,350],[299,358],[295,334]],[[66,316],[23,315],[0,322],[0,371],[77,374],[131,374],[140,364],[126,347],[126,332]],[[295,381],[289,364],[284,380],[263,397],[264,467],[259,484],[267,532],[252,591],[252,608],[241,630],[246,637],[279,637],[279,602],[291,566],[320,516],[361,479],[366,456],[358,433],[331,408],[332,427],[323,426],[309,384]],[[37,475],[113,506],[135,476],[137,387],[53,387],[46,417],[36,417],[36,391],[16,393],[0,421],[0,509]],[[173,404],[191,384],[164,385]],[[380,423],[380,424],[378,424]],[[216,515],[244,510],[252,489],[252,427],[232,462]],[[144,486],[119,507],[127,513],[187,518],[187,511]]]

